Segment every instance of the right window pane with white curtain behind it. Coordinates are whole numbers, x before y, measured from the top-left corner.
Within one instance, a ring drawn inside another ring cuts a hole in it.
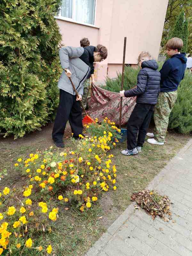
[[[74,0],[75,3],[75,17],[74,20],[94,24],[95,18],[95,0]]]

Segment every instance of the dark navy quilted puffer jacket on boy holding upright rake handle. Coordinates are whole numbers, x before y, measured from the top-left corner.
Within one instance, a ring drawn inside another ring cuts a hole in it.
[[[125,97],[137,96],[137,103],[157,104],[160,92],[161,74],[155,60],[143,61],[137,76],[137,87],[124,92]]]

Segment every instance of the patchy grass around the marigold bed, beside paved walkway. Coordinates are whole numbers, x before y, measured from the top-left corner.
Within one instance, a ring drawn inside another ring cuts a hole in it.
[[[36,233],[36,245],[44,247],[51,243],[57,256],[83,256],[131,203],[132,193],[144,189],[168,160],[187,142],[188,137],[168,134],[166,140],[164,146],[145,143],[142,152],[137,156],[123,156],[120,152],[126,148],[126,143],[118,144],[116,148],[110,151],[114,155],[117,169],[117,190],[104,192],[98,204],[94,205],[88,212],[79,212],[75,205],[66,204],[60,207],[59,218],[51,226],[52,231],[50,233],[48,231]],[[34,141],[33,144],[30,142],[15,148],[5,143],[2,144],[0,169],[6,168],[8,176],[0,181],[1,188],[5,184],[10,187],[22,187],[25,184],[25,178],[20,178],[14,171],[13,164],[16,159],[18,157],[25,158],[36,149],[43,150],[51,145],[52,143],[47,140]],[[67,150],[75,149],[75,147],[75,143],[71,143],[70,140],[66,141]],[[65,210],[66,207],[69,209]],[[13,254],[14,256],[20,255],[17,252],[13,252]],[[22,253],[22,255],[28,256],[30,251],[27,254],[26,252]],[[42,256],[46,253],[33,250],[33,255]]]

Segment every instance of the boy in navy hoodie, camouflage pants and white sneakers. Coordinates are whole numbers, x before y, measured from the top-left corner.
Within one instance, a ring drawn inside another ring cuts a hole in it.
[[[167,55],[171,58],[165,61],[160,70],[161,92],[154,109],[155,129],[154,133],[147,133],[147,136],[154,137],[147,141],[157,145],[164,145],[169,116],[177,100],[177,88],[184,78],[187,62],[186,53],[180,53],[183,47],[183,41],[180,38],[170,39],[165,47]]]

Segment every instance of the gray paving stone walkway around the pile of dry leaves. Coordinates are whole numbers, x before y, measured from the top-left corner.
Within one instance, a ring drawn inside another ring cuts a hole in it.
[[[172,201],[172,220],[131,204],[85,256],[192,256],[192,139],[149,184]]]

